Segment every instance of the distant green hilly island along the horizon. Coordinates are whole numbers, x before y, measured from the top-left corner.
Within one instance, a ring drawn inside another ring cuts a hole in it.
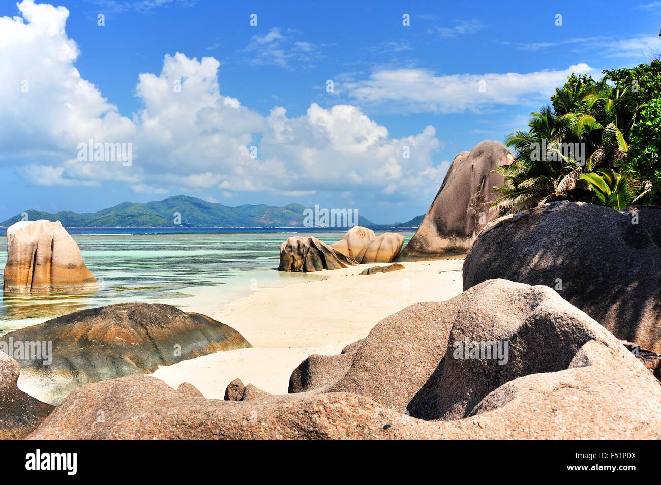
[[[93,213],[50,213],[30,209],[1,222],[0,226],[9,227],[27,218],[30,221],[60,221],[65,227],[304,227],[305,209],[301,204],[228,207],[196,197],[173,196],[146,204],[122,202]],[[358,215],[358,225],[372,228],[416,227],[422,217],[418,215],[405,223],[385,225],[375,224]]]

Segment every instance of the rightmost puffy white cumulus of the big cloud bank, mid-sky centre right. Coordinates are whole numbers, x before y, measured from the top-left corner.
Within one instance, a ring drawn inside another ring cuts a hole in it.
[[[274,108],[268,122],[262,148],[272,157],[266,163],[275,168],[274,180],[286,190],[293,190],[292,184],[303,190],[383,190],[418,176],[440,147],[432,126],[415,136],[391,139],[387,128],[350,105],[325,109],[313,103],[299,118],[287,118],[284,108]],[[284,177],[279,173],[285,168],[282,161],[288,161]]]

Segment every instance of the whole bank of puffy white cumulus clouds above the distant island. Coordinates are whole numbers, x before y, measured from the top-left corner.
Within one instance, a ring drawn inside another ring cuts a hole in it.
[[[311,104],[295,117],[276,106],[264,116],[221,94],[213,57],[166,55],[160,73],[137,79],[141,109],[122,116],[75,68],[80,51],[65,31],[68,11],[32,0],[19,11],[0,19],[0,84],[9,87],[0,91],[0,161],[31,184],[120,182],[141,194],[203,188],[225,196],[354,191],[405,198],[406,190],[415,194],[415,186],[430,184],[437,169],[440,141],[432,126],[395,139],[348,104]],[[271,30],[253,42],[272,46],[283,37]],[[304,42],[295,47],[313,49]],[[80,160],[79,144],[89,140],[131,143],[132,163]]]

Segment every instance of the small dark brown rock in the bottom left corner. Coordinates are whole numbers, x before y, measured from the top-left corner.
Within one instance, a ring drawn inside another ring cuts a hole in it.
[[[22,439],[48,416],[54,406],[20,391],[19,364],[0,352],[0,439]]]

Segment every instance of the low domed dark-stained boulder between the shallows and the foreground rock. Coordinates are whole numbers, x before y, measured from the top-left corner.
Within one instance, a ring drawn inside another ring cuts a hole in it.
[[[52,342],[50,362],[17,357],[21,389],[52,404],[87,383],[251,347],[239,332],[206,315],[148,303],[77,311],[5,334],[0,348],[3,342]]]

